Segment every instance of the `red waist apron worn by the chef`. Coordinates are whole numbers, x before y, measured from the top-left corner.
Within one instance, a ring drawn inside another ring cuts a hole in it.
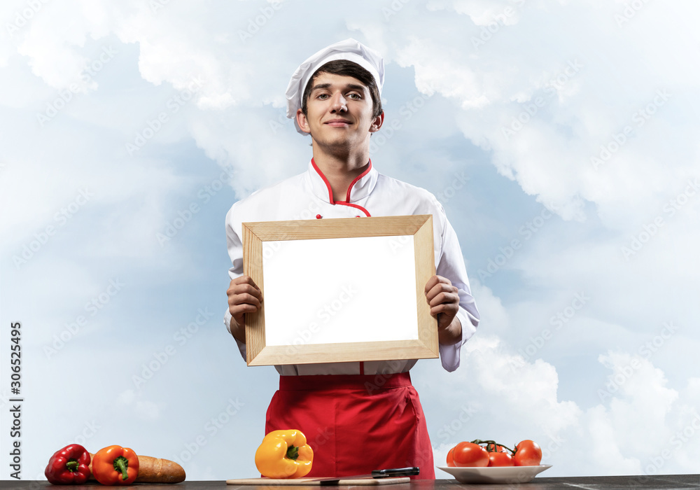
[[[378,382],[379,381],[379,382]],[[381,385],[381,386],[379,386]],[[418,466],[435,479],[423,408],[407,372],[280,376],[265,433],[297,428],[314,449],[309,477]]]

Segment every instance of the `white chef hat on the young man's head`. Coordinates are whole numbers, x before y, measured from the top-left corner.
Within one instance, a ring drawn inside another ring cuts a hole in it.
[[[287,117],[294,120],[294,126],[301,134],[308,134],[301,130],[296,120],[297,109],[301,109],[302,107],[304,89],[317,69],[336,59],[346,59],[347,61],[357,63],[365,70],[369,71],[374,81],[377,83],[379,94],[381,94],[381,85],[384,85],[384,59],[381,59],[379,52],[367,48],[363,43],[355,41],[352,38],[331,44],[316,52],[314,55],[311,55],[305,62],[300,64],[292,75],[292,79],[289,80],[286,92]]]

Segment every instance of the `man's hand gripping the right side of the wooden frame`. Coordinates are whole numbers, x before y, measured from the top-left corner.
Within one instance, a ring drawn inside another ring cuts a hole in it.
[[[456,344],[462,338],[462,324],[456,314],[459,311],[458,289],[447,277],[433,276],[426,283],[426,300],[430,314],[437,318],[437,340],[440,344]]]

